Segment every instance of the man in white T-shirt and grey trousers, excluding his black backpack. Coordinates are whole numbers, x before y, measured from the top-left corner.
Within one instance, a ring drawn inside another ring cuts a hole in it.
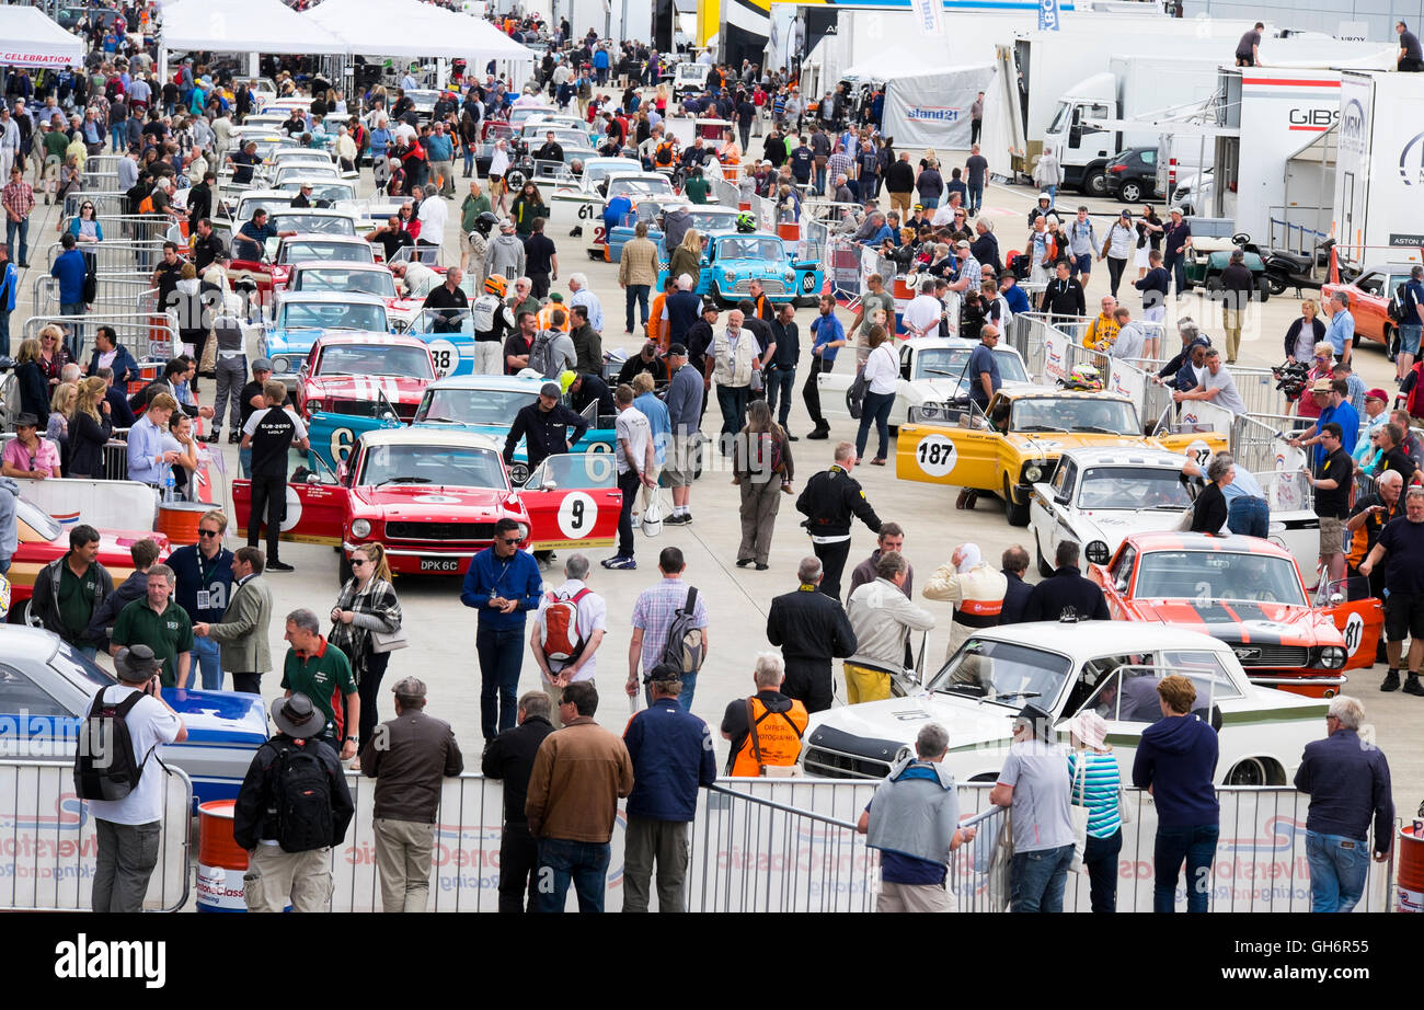
[[[118,684],[103,692],[108,705],[127,704],[135,692],[141,695],[124,715],[140,778],[122,799],[85,801],[98,832],[91,899],[94,912],[142,912],[148,878],[158,865],[165,775],[154,751],[159,744],[188,739],[188,728],[162,698],[158,670],[158,660],[147,645],[121,650],[114,658]],[[112,731],[108,731],[105,739],[112,738]]]

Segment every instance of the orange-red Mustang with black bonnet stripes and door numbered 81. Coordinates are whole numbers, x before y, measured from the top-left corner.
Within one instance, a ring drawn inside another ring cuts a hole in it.
[[[1384,623],[1373,597],[1312,605],[1290,553],[1256,537],[1139,533],[1089,577],[1112,620],[1220,638],[1253,682],[1312,698],[1334,697],[1343,671],[1374,664]]]

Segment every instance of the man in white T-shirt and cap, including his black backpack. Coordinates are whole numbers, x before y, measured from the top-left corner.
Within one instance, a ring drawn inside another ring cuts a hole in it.
[[[100,688],[80,725],[74,791],[87,801],[98,833],[94,912],[142,912],[148,878],[158,865],[164,775],[150,758],[159,764],[159,745],[188,739],[184,721],[164,701],[158,668],[147,645],[120,651],[114,658],[118,684]]]

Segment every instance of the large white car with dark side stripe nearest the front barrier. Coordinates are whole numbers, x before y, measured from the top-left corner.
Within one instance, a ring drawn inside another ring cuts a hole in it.
[[[1156,685],[1166,674],[1196,684],[1193,711],[1218,729],[1218,785],[1287,785],[1304,745],[1324,735],[1327,702],[1252,684],[1223,641],[1161,624],[1062,621],[985,628],[927,687],[817,712],[800,765],[822,778],[884,778],[933,719],[950,734],[944,761],[954,778],[994,782],[1011,717],[1032,701],[1064,744],[1067,721],[1096,711],[1118,764],[1131,769],[1142,731],[1162,718]]]

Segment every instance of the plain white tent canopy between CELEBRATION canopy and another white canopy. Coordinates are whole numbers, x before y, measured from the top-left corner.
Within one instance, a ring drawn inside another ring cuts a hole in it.
[[[178,0],[164,7],[165,50],[346,53],[346,43],[282,0]]]

